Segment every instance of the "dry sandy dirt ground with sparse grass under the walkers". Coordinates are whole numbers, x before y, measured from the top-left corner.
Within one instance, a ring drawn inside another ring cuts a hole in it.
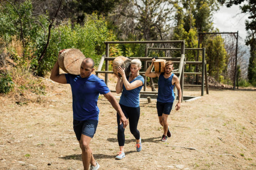
[[[116,80],[110,81],[114,90]],[[17,104],[0,96],[0,170],[83,169],[72,127],[71,88],[44,82],[49,90],[37,102]],[[184,89],[184,95],[200,94],[200,88]],[[210,89],[209,95],[182,102],[169,116],[172,137],[167,142],[160,140],[156,100],[141,99],[142,151],[136,152],[126,128],[122,160],[114,159],[119,150],[116,112],[103,95],[98,107],[99,125],[90,146],[100,170],[256,170],[256,90]]]

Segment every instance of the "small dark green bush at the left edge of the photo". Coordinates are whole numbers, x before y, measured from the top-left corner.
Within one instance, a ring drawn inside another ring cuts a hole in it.
[[[13,89],[13,79],[9,74],[0,74],[0,93],[7,94]]]

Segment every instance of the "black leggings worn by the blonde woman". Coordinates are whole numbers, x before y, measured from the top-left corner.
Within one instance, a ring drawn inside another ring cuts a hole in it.
[[[135,137],[135,139],[140,139],[140,132],[137,129],[138,120],[140,118],[140,107],[127,107],[119,104],[125,117],[129,120],[130,131]],[[118,144],[119,146],[124,146],[125,143],[125,135],[123,123],[120,124],[120,116],[117,114],[117,122],[118,122]]]

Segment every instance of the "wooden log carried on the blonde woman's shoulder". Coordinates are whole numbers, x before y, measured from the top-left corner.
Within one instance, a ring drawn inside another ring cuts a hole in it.
[[[113,60],[113,72],[115,75],[121,77],[121,75],[117,71],[118,66],[125,68],[125,76],[127,77],[131,72],[131,59],[124,56],[118,56],[115,57],[115,60]]]

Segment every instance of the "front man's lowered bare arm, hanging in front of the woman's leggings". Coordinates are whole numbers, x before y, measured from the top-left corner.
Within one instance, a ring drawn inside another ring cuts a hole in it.
[[[115,97],[112,95],[111,92],[104,94],[104,96],[108,99],[108,101],[111,103],[111,105],[114,107],[114,109],[118,112],[118,115],[120,116],[120,125],[123,123],[123,128],[125,128],[128,125],[128,120],[126,119],[125,115],[123,114],[123,111],[122,111],[120,105],[115,100]]]

